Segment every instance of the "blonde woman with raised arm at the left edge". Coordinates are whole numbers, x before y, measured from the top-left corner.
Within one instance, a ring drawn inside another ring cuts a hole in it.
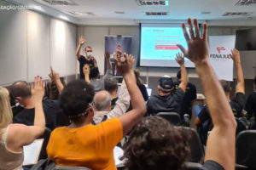
[[[9,92],[0,87],[0,169],[22,169],[24,160],[23,146],[31,144],[44,133],[45,119],[42,106],[44,82],[35,77],[31,85],[32,99],[35,103],[34,126],[12,123],[12,111],[9,104]]]

